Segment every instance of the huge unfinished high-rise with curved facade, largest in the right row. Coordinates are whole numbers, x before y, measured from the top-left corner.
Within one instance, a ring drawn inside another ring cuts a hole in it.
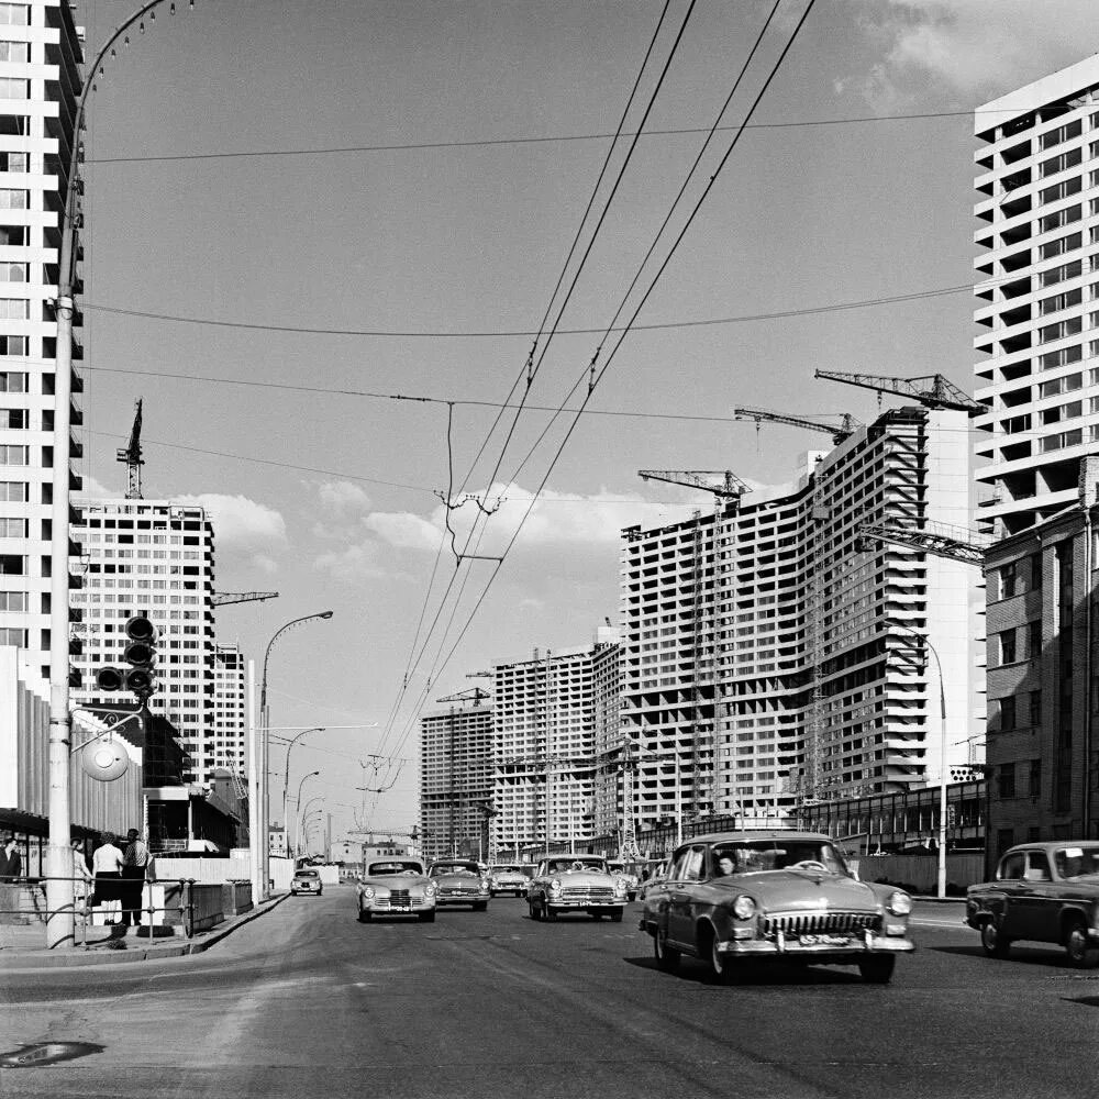
[[[636,761],[632,815],[784,820],[810,799],[937,781],[943,667],[947,763],[974,722],[978,576],[863,524],[931,529],[968,518],[964,413],[902,408],[789,487],[622,547],[622,731]]]

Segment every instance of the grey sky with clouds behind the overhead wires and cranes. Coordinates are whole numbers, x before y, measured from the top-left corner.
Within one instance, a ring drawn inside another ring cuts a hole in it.
[[[334,840],[409,829],[419,713],[588,643],[621,529],[711,503],[639,469],[789,481],[826,436],[732,409],[877,414],[817,368],[972,389],[972,112],[1099,48],[1094,3],[818,0],[722,164],[807,2],[780,0],[723,115],[770,0],[670,0],[644,70],[663,0],[179,0],[97,75],[86,485],[123,493],[141,397],[145,497],[210,508],[219,590],[279,592],[220,610],[219,641],[262,663],[334,611],[268,671],[276,735],[325,729],[290,790],[320,770]],[[80,4],[89,55],[132,10]],[[578,385],[575,408],[593,358],[566,437],[542,409]],[[502,560],[459,563],[447,520]]]

